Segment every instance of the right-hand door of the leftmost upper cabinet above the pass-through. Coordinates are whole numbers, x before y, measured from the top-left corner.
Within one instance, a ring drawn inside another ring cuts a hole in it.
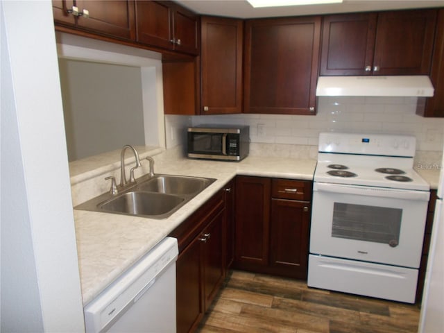
[[[76,1],[79,12],[88,10],[89,17],[79,16],[77,24],[99,33],[134,40],[134,1]]]

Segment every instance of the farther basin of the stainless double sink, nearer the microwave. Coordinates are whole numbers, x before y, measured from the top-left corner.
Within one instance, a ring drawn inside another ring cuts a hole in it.
[[[187,176],[155,176],[137,186],[140,191],[189,196],[205,189],[214,180]]]

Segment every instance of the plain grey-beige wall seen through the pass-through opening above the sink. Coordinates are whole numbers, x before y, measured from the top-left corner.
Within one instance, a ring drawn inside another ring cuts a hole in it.
[[[69,161],[145,145],[139,67],[59,60]]]

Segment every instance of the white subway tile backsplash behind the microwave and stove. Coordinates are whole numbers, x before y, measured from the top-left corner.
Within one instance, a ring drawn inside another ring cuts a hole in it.
[[[416,103],[416,97],[320,97],[316,116],[167,115],[167,148],[186,144],[187,126],[224,123],[250,126],[253,144],[317,146],[321,132],[390,133],[414,135],[418,151],[442,152],[444,119],[416,115]]]

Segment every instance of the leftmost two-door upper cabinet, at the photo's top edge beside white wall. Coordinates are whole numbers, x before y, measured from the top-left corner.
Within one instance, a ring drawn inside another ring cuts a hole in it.
[[[86,32],[135,39],[134,1],[53,0],[54,22]]]

